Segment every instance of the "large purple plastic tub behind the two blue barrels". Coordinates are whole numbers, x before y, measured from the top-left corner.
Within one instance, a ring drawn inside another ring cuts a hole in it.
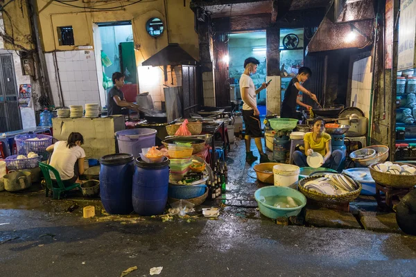
[[[140,155],[141,148],[150,148],[156,143],[155,129],[126,129],[116,132],[117,142],[119,143],[119,152],[132,154],[137,158]]]

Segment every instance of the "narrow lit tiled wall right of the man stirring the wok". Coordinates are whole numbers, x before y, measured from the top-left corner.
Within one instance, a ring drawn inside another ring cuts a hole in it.
[[[363,110],[367,117],[370,113],[371,82],[371,57],[354,62],[352,68],[351,106]]]

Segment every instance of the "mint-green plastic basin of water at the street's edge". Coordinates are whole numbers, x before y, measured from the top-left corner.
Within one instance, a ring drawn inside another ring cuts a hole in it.
[[[270,196],[289,196],[293,199],[297,199],[297,201],[302,204],[295,208],[277,208],[260,201],[263,197]],[[302,208],[306,205],[306,197],[302,195],[302,193],[285,186],[265,186],[263,188],[259,188],[254,193],[254,198],[259,205],[260,213],[273,220],[277,217],[291,217],[298,215]]]

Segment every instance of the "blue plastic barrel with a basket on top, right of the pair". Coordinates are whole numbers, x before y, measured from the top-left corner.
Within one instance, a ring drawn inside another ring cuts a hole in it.
[[[162,163],[135,161],[132,202],[139,215],[161,215],[168,201],[169,159]]]

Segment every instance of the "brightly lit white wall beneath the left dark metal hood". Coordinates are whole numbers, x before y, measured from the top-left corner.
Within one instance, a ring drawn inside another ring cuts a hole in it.
[[[140,93],[148,92],[152,96],[155,109],[162,109],[165,84],[168,87],[182,86],[181,66],[175,66],[172,74],[171,67],[167,67],[168,80],[166,82],[164,81],[163,66],[138,66],[137,71],[139,75],[139,91]]]

